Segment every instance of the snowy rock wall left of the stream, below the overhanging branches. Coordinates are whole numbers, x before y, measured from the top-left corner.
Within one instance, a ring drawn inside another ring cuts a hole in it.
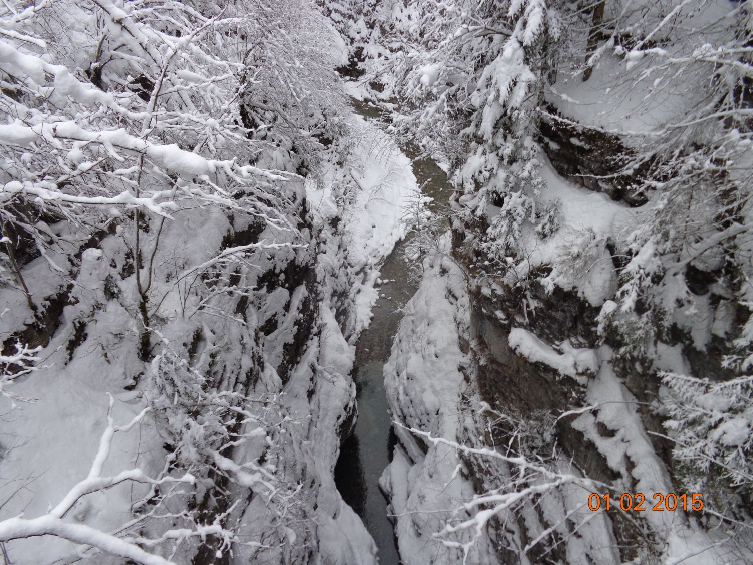
[[[43,258],[29,262],[26,273],[35,282],[35,298],[44,304],[46,322],[24,325],[24,319],[5,316],[4,329],[12,340],[24,337],[30,345],[46,347],[47,366],[14,384],[15,394],[36,402],[19,402],[14,422],[4,426],[2,468],[9,477],[42,475],[27,480],[20,492],[12,481],[3,485],[10,498],[3,517],[20,509],[27,516],[44,513],[49,501],[86,476],[102,432],[105,392],[111,392],[118,421],[144,406],[154,415],[135,435],[119,440],[108,469],[141,466],[157,476],[166,462],[191,468],[199,483],[183,499],[187,510],[203,523],[218,521],[242,538],[264,540],[262,548],[234,547],[231,552],[209,536],[205,544],[183,544],[172,557],[177,562],[374,562],[370,536],[342,502],[332,479],[340,439],[355,417],[352,351],[341,330],[352,323],[353,300],[333,287],[352,286],[356,269],[339,252],[343,232],[333,228],[337,222],[309,210],[302,185],[291,197],[288,220],[300,231],[298,247],[260,249],[231,265],[230,283],[246,290],[213,302],[217,310],[210,311],[216,316],[194,312],[196,304],[191,306],[183,287],[178,289],[184,292],[172,292],[176,268],[190,268],[201,264],[206,254],[221,255],[237,246],[279,243],[284,232],[281,236],[276,228],[245,215],[201,210],[166,224],[157,253],[157,264],[166,267],[154,275],[155,294],[166,292],[166,299],[154,320],[145,362],[136,355],[133,256],[117,235],[87,240],[78,265],[63,262],[62,256],[53,258],[70,268],[73,284],[66,284],[65,276],[43,276]],[[157,223],[148,233],[155,233]],[[65,225],[53,229],[64,230]],[[218,284],[215,276],[221,273],[210,270],[194,283],[212,289]],[[45,301],[44,296],[49,298]],[[8,304],[13,305],[12,300]],[[338,310],[341,323],[335,320]],[[187,374],[181,372],[179,359],[189,364]],[[192,384],[197,378],[200,389]],[[200,425],[209,423],[202,419],[209,418],[212,409],[197,420],[179,409],[205,393],[215,399],[247,399],[238,407],[246,415],[229,426],[232,434],[248,435],[246,441],[218,451],[218,439]],[[267,419],[264,433],[254,431],[249,414]],[[185,426],[197,424],[185,434]],[[66,447],[74,437],[75,448]],[[44,473],[50,463],[58,473]],[[270,502],[270,493],[246,476],[242,466],[247,463],[264,464],[287,499],[273,497]],[[107,496],[88,497],[77,507],[75,520],[114,530],[127,521],[139,496],[141,490],[116,488]],[[181,521],[155,524],[152,521],[152,533],[178,527]],[[7,548],[14,563],[46,563],[49,556],[75,554],[68,542],[49,537],[11,542]]]

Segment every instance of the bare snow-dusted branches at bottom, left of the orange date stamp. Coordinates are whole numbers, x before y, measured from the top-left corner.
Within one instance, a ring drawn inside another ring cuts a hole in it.
[[[552,444],[547,442],[551,439],[553,427],[550,414],[504,418],[505,422],[492,424],[506,428],[502,443],[498,445],[472,438],[474,446],[471,447],[462,441],[437,438],[419,429],[409,430],[429,445],[456,450],[462,466],[476,480],[474,496],[457,506],[434,538],[439,539],[445,548],[462,551],[465,565],[471,563],[475,545],[483,536],[489,536],[488,530],[498,534],[495,540],[498,554],[517,560],[535,560],[537,556],[556,554],[560,536],[580,531],[583,543],[560,551],[568,554],[573,562],[591,559],[610,562],[611,552],[599,545],[598,534],[591,531],[592,527],[597,530],[602,526],[602,517],[592,522],[592,512],[584,509],[582,503],[573,504],[584,492],[604,485],[584,478],[572,462],[552,449]],[[479,428],[483,433],[483,428]],[[489,435],[499,438],[499,430],[496,431],[492,427]],[[563,512],[572,506],[575,509]],[[521,535],[521,522],[532,529],[538,527],[543,533],[535,539]]]

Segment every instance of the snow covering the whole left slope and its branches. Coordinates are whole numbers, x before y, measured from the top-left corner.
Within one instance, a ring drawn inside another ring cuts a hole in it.
[[[237,17],[246,8],[253,14]],[[43,2],[13,26],[62,38],[54,50],[20,32],[0,42],[0,67],[24,90],[0,124],[0,148],[16,163],[0,200],[26,200],[23,209],[34,211],[41,256],[33,258],[32,243],[23,276],[51,334],[35,328],[44,345],[10,356],[37,356],[36,371],[12,381],[4,372],[0,383],[0,531],[51,534],[7,542],[13,563],[123,560],[101,551],[189,563],[197,543],[186,539],[171,554],[170,540],[227,530],[181,515],[202,512],[204,521],[225,510],[239,539],[251,540],[233,545],[237,562],[297,562],[309,548],[322,561],[376,562],[332,475],[355,410],[348,340],[367,323],[364,292],[380,261],[404,235],[401,197],[415,180],[385,135],[349,115],[328,54],[339,47],[342,61],[344,46],[328,40],[331,26],[308,5],[288,8],[246,3],[212,20],[183,5],[157,14],[108,0],[94,8]],[[6,12],[3,27],[17,17]],[[239,78],[245,63],[225,47],[228,25],[260,39],[271,62],[256,59],[248,81]],[[98,41],[99,61],[108,62],[101,87],[84,75]],[[139,75],[164,81],[158,99],[145,102],[128,86]],[[262,115],[270,123],[247,136],[239,87],[285,111]],[[312,141],[315,132],[331,135],[333,147]],[[306,167],[305,181],[292,173]],[[338,174],[343,191],[313,206],[304,183],[327,187]],[[139,227],[136,207],[145,212]],[[233,243],[241,238],[251,241]],[[5,339],[34,319],[15,277],[5,284],[5,261],[2,268]],[[148,413],[95,459],[107,393],[118,423]],[[123,484],[81,491],[97,484],[87,478],[93,460]],[[149,481],[133,484],[146,475],[159,484],[184,467],[195,472],[192,486],[157,493]],[[227,477],[228,509],[216,502],[211,468]],[[70,512],[58,512],[69,502]],[[175,515],[134,514],[163,510]]]

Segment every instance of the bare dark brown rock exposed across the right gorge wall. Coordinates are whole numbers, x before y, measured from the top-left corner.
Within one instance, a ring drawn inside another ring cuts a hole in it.
[[[541,122],[541,145],[559,176],[589,191],[603,192],[626,207],[646,203],[646,197],[632,188],[643,172],[634,171],[631,175],[621,172],[621,160],[630,150],[616,136],[581,127],[575,121],[556,115],[554,108],[550,110],[551,117]],[[478,255],[465,255],[468,248],[462,246],[465,238],[462,228],[456,228],[453,235],[456,258],[468,272],[473,272]],[[606,240],[601,245],[612,255],[608,262],[612,276],[619,278],[624,262],[615,256],[611,241]],[[674,351],[673,355],[687,363],[693,374],[712,380],[729,379],[733,371],[724,365],[723,357],[731,352],[730,342],[713,336],[705,350],[700,350],[691,334],[682,331],[677,323],[669,324],[655,337],[636,337],[635,333],[605,324],[605,309],[594,306],[581,289],[547,285],[551,272],[552,267],[544,264],[529,273],[525,284],[513,288],[493,283],[471,284],[468,329],[471,368],[468,374],[474,376],[474,389],[479,399],[501,414],[536,424],[541,423],[542,415],[550,415],[548,423],[540,428],[548,426],[550,430],[549,447],[558,450],[584,476],[605,484],[621,485],[624,492],[640,492],[646,489],[648,482],[648,474],[641,467],[651,460],[656,467],[651,479],[655,481],[654,488],[663,484],[670,491],[678,491],[681,487],[672,459],[675,445],[666,439],[663,426],[666,418],[657,412],[657,399],[662,394],[658,373],[666,362],[663,352]],[[715,295],[715,291],[719,291],[713,286],[721,276],[721,273],[698,269],[685,274],[688,288],[696,295],[707,295],[712,304],[724,300],[724,292]],[[739,331],[746,313],[730,316],[737,320],[734,323]],[[596,354],[597,365],[593,370],[563,373],[556,359],[551,362],[546,356],[537,358],[517,347],[511,334],[520,330],[547,350],[553,348],[550,353],[555,357],[565,356],[573,348],[591,351]],[[636,348],[636,341],[641,343],[640,347]],[[610,379],[614,377],[611,383],[614,396],[599,396],[594,391],[605,386],[607,372]],[[594,402],[596,399],[599,402]],[[621,402],[630,409],[620,417],[608,416],[600,408],[601,402]],[[586,422],[582,409],[589,405],[593,408],[585,411],[590,418]],[[568,411],[574,414],[556,417]],[[629,429],[640,435],[641,440],[633,447],[617,449],[616,453],[615,444],[630,443],[628,436],[632,432],[628,432]],[[483,429],[478,428],[476,433],[492,444],[505,444],[511,438],[511,429],[505,425],[492,429],[490,435],[488,430],[484,435]],[[497,484],[498,468],[481,465],[471,458],[465,458],[465,464],[476,492],[489,490]],[[614,539],[619,551],[610,557],[602,556],[605,563],[639,557],[651,560],[656,557],[653,551],[661,551],[662,536],[666,535],[662,533],[664,524],[654,527],[635,521],[614,507],[607,514],[605,535]],[[547,518],[541,518],[547,524]],[[682,523],[684,516],[679,515],[675,524]],[[520,554],[516,557],[516,552],[509,549],[511,539],[515,539],[513,546],[520,548],[541,533],[539,524],[520,518],[516,522],[517,538],[511,536],[508,521],[494,520],[490,524],[491,543],[503,562],[520,558]],[[579,533],[574,530],[573,536],[578,537]],[[638,539],[651,541],[636,543]],[[568,556],[558,544],[544,545],[546,554],[572,562],[572,555]],[[544,559],[544,555],[536,551],[528,557],[532,563]]]

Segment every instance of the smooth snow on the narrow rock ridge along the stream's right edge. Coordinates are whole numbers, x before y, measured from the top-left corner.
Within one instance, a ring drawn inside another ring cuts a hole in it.
[[[449,246],[449,237],[443,245]],[[459,334],[465,333],[467,323],[468,297],[458,267],[446,258],[427,259],[383,369],[395,422],[437,437],[459,434],[459,402],[466,389],[461,368],[467,365]],[[441,444],[429,444],[427,451],[400,426],[395,432],[399,443],[380,485],[389,493],[401,559],[411,565],[458,563],[459,552],[442,547],[433,536],[444,528],[458,501],[473,494],[459,475],[459,455]],[[475,562],[496,562],[484,542],[478,551]]]

